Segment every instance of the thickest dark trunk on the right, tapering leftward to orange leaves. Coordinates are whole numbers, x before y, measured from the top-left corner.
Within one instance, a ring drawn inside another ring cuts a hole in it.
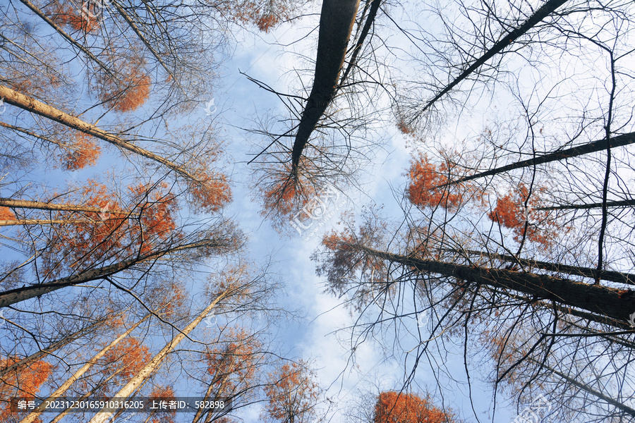
[[[629,315],[635,310],[635,298],[629,296],[622,298],[617,288],[589,285],[539,274],[417,259],[374,250],[363,245],[353,245],[353,248],[389,262],[411,266],[422,273],[440,274],[461,281],[515,290],[612,319],[627,321]]]

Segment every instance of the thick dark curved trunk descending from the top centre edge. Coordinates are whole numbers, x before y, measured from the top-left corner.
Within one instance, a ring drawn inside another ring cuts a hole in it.
[[[359,0],[322,2],[313,88],[302,112],[291,152],[291,174],[294,176],[298,174],[303,149],[315,130],[317,121],[320,121],[337,92],[339,73],[344,66],[346,47],[349,46],[358,7]]]

